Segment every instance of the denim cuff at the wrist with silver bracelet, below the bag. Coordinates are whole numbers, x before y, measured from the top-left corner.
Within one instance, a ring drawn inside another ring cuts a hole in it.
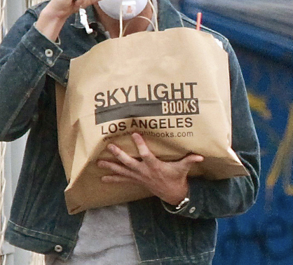
[[[199,217],[203,208],[203,189],[198,184],[195,177],[189,178],[189,202],[184,205],[183,208],[175,210],[174,205],[165,203],[161,200],[163,208],[174,215],[182,215],[184,217],[190,217],[196,219]]]

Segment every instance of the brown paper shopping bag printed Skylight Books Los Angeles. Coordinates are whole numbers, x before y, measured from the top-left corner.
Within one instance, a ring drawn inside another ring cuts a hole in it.
[[[71,60],[57,109],[71,214],[151,196],[141,186],[102,183],[109,172],[96,165],[114,160],[110,142],[138,157],[133,132],[164,161],[205,156],[190,175],[249,175],[231,149],[228,55],[210,34],[175,28],[103,41]]]

